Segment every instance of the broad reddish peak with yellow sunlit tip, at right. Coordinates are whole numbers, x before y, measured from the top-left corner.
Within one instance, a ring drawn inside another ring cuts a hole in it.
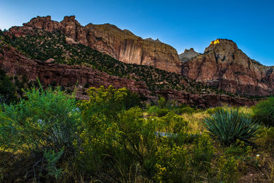
[[[267,96],[274,93],[273,68],[251,60],[232,40],[218,39],[183,62],[182,75],[230,93]]]

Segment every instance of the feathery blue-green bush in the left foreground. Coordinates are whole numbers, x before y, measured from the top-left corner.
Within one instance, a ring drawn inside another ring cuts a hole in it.
[[[1,148],[17,157],[5,164],[3,180],[60,178],[57,162],[69,163],[75,153],[73,141],[81,121],[73,97],[60,90],[33,88],[18,104],[4,105],[0,121]]]

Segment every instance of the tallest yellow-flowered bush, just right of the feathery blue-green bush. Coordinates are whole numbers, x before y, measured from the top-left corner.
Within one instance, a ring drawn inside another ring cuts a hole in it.
[[[84,119],[82,143],[75,142],[79,166],[103,181],[134,181],[139,173],[153,174],[155,123],[145,120],[140,108],[125,111],[125,88],[90,88],[88,95],[89,101],[79,103]]]

